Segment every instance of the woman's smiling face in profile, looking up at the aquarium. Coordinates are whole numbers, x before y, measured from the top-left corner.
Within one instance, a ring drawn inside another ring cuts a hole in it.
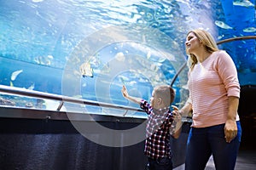
[[[190,32],[186,38],[185,42],[186,50],[189,52],[189,54],[193,54],[193,52],[201,47],[201,42],[199,39],[195,36],[194,32]]]

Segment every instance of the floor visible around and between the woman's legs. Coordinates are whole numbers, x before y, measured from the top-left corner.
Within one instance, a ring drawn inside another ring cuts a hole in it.
[[[174,168],[174,170],[183,170],[184,164]],[[212,157],[207,163],[205,170],[215,170]],[[256,150],[240,150],[236,159],[235,170],[256,170]]]

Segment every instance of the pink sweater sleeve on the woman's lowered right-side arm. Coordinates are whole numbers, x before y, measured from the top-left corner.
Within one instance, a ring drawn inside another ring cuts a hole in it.
[[[240,98],[240,84],[237,77],[236,65],[230,55],[219,51],[217,61],[218,74],[224,82],[228,96]]]

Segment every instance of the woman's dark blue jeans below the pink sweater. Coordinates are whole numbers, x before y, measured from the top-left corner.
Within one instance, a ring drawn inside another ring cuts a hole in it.
[[[186,170],[204,170],[212,155],[217,170],[234,170],[241,142],[241,124],[237,124],[237,136],[230,143],[224,139],[224,124],[191,127],[187,142]]]

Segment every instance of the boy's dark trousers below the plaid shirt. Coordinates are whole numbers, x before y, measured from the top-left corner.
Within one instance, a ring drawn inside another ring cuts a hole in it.
[[[157,160],[148,158],[147,170],[172,170],[172,159],[168,157]]]

